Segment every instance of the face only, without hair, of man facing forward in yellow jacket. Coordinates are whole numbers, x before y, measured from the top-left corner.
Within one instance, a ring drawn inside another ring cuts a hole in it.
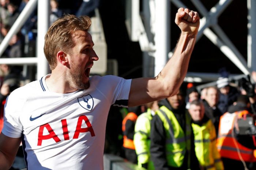
[[[192,104],[190,105],[188,112],[194,121],[200,121],[204,117],[204,106],[202,103],[199,106]]]

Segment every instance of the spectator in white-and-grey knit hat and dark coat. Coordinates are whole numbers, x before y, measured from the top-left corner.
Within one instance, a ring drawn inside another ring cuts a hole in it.
[[[228,78],[220,77],[217,80],[217,87],[220,91],[218,108],[224,114],[227,112],[227,108],[237,100],[239,93],[237,88],[229,85]]]

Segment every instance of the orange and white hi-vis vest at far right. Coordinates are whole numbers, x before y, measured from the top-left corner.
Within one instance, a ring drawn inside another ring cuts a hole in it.
[[[242,146],[234,136],[234,125],[237,119],[251,114],[247,110],[242,110],[235,113],[225,113],[219,121],[219,133],[217,139],[217,148],[223,158],[241,160],[246,162],[256,162],[253,155],[254,150]]]

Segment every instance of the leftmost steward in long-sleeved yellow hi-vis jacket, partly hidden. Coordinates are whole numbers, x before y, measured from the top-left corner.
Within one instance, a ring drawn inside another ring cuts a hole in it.
[[[147,112],[138,116],[135,123],[134,145],[138,156],[138,166],[154,170],[153,162],[150,159],[150,129],[152,117],[159,107],[157,101],[147,103],[146,106]]]

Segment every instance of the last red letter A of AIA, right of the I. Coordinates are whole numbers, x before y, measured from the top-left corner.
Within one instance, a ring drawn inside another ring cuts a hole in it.
[[[87,128],[82,128],[83,120],[85,121],[85,123],[87,125]],[[79,118],[78,118],[78,122],[77,122],[77,125],[76,125],[76,131],[75,131],[75,134],[73,136],[73,139],[78,139],[79,134],[82,133],[82,132],[90,132],[92,137],[95,136],[94,131],[93,131],[93,127],[91,126],[90,121],[84,115],[79,116]]]

